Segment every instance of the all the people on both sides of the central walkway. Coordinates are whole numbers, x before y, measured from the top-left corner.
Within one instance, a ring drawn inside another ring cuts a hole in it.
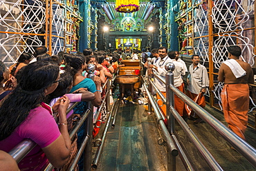
[[[231,130],[245,139],[248,83],[253,82],[253,71],[248,63],[239,60],[241,49],[238,46],[231,46],[228,52],[230,59],[224,62],[219,70],[219,81],[225,83],[221,94],[223,111]],[[142,54],[136,53],[133,53],[133,59],[141,57],[146,61],[145,67],[149,68],[147,74],[155,72],[165,78],[166,63],[174,63],[174,86],[201,107],[205,107],[204,93],[209,86],[208,71],[199,63],[198,55],[192,55],[192,64],[187,68],[185,62],[179,59],[179,52],[167,52],[165,47],[153,49],[149,53],[145,50]],[[51,57],[42,46],[36,48],[34,54],[21,54],[17,63],[9,69],[0,61],[0,162],[10,158],[5,152],[9,152],[24,139],[31,139],[37,145],[19,162],[19,169],[41,170],[49,162],[55,168],[62,168],[72,150],[73,142],[68,134],[71,129],[68,124],[73,121],[72,117],[70,119],[71,114],[75,113],[81,117],[88,101],[91,101],[97,110],[105,93],[103,84],[107,79],[113,78],[120,66],[124,66],[120,63],[122,55],[123,52],[93,52],[91,49],[85,49],[76,54],[59,52]],[[147,57],[152,57],[150,63],[146,60]],[[94,80],[87,78],[89,64],[95,66]],[[234,70],[238,70],[238,73]],[[183,83],[185,75],[188,75],[186,92]],[[157,78],[154,78],[154,83],[166,97],[165,84]],[[237,90],[241,92],[237,93]],[[156,97],[161,99],[159,94],[156,94]],[[80,103],[66,114],[67,108],[75,102]],[[158,105],[165,114],[165,104],[159,100]],[[174,108],[184,119],[189,117],[194,123],[203,121],[176,95]],[[98,119],[104,123],[106,118],[106,112],[103,110]],[[79,139],[84,136],[83,133],[78,132],[77,143],[80,143]],[[98,131],[94,130],[93,136],[97,133]],[[13,170],[18,170],[17,165],[13,165],[12,161],[10,163],[10,167],[14,167]]]

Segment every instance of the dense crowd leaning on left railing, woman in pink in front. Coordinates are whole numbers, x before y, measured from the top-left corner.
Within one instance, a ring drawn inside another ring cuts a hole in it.
[[[91,49],[50,56],[42,46],[34,54],[21,54],[10,68],[0,61],[1,154],[31,139],[37,145],[19,162],[19,169],[41,170],[49,162],[55,168],[66,165],[73,143],[68,134],[71,114],[81,117],[87,101],[97,110],[104,97],[103,84],[123,66],[119,59],[118,53]],[[90,63],[95,66],[94,80],[87,78]],[[75,102],[80,103],[66,114]],[[100,117],[104,122],[106,116],[102,113]],[[93,136],[97,133],[94,130]],[[82,132],[78,132],[77,143],[80,136]]]

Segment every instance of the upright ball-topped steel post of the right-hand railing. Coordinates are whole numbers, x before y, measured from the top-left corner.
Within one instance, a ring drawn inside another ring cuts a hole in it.
[[[170,134],[174,134],[174,116],[170,113],[171,105],[174,106],[174,92],[170,89],[170,84],[174,84],[174,74],[172,73],[175,69],[174,63],[166,63],[165,70],[165,88],[166,88],[166,118],[167,128]],[[167,148],[167,170],[176,170],[176,157],[172,156],[171,151]]]

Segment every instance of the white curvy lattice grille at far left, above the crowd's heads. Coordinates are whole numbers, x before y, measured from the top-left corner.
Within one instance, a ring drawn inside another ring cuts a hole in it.
[[[15,63],[22,52],[42,46],[45,8],[42,1],[0,1],[0,55],[4,63]]]

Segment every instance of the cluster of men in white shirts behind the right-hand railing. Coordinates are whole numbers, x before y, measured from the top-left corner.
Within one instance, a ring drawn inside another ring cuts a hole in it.
[[[185,77],[188,69],[185,65],[185,62],[179,59],[179,52],[167,52],[167,48],[160,47],[158,49],[153,49],[151,53],[153,59],[150,64],[146,62],[145,66],[165,79],[165,74],[167,73],[167,70],[165,70],[165,65],[170,62],[174,63],[174,86],[181,92],[185,93],[183,77]],[[152,72],[150,70],[149,72]],[[205,88],[208,88],[209,86],[209,79],[206,68],[199,63],[198,55],[192,55],[192,64],[189,67],[187,78],[188,91],[186,92],[186,94],[191,99],[195,100],[197,98],[197,101],[203,101],[203,103],[205,104],[203,94],[205,93]],[[157,78],[154,78],[154,83],[156,84],[158,90],[160,90],[160,92],[166,97],[165,84]],[[192,94],[194,96],[192,96]],[[159,99],[158,105],[161,106],[161,111],[163,112],[163,114],[166,115],[166,105],[163,103],[163,101],[161,101],[161,96],[156,93],[156,97],[157,99]],[[201,106],[204,107],[204,105]],[[181,117],[183,117],[184,119],[193,119],[194,123],[200,123],[202,121],[201,118],[199,118],[196,114],[187,112],[187,110],[185,110],[185,107],[188,108],[188,106],[186,106],[185,103],[179,97],[177,97],[176,94],[174,94],[174,108],[177,112],[179,112]]]

